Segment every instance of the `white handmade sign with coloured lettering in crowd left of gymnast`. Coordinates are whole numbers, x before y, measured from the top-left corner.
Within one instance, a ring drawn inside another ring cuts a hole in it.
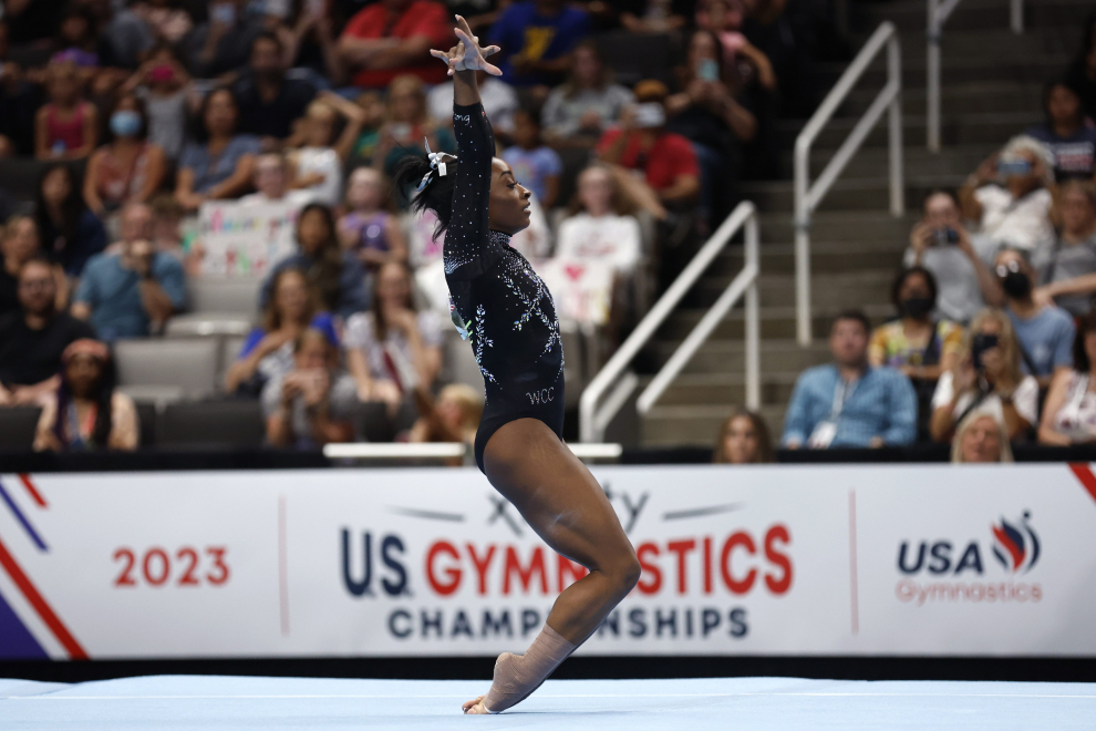
[[[289,203],[210,202],[198,210],[201,272],[265,275],[297,249],[300,206]]]

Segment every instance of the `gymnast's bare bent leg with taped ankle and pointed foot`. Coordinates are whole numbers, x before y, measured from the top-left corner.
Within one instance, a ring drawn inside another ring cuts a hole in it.
[[[497,713],[524,700],[601,625],[639,580],[640,565],[620,521],[593,478],[541,421],[502,426],[484,449],[490,484],[545,543],[590,573],[567,587],[524,656],[504,652],[490,691],[465,713]]]

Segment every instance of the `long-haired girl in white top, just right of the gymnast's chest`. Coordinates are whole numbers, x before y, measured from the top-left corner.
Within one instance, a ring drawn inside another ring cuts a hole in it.
[[[621,274],[631,274],[642,255],[642,234],[632,212],[608,168],[587,167],[578,178],[571,215],[559,225],[556,258],[606,261]]]

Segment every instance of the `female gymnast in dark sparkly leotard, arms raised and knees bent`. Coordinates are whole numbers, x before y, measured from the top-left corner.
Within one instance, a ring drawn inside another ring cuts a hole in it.
[[[486,406],[476,463],[545,543],[589,574],[556,599],[525,655],[504,652],[486,696],[465,713],[499,713],[524,700],[598,628],[639,580],[640,565],[593,475],[562,443],[563,349],[551,295],[509,238],[529,225],[529,192],[494,157],[476,71],[502,72],[484,58],[457,16],[457,45],[445,61],[453,76],[458,156],[406,158],[401,189],[418,185],[413,208],[434,212],[445,234],[445,278],[454,323],[472,341]]]

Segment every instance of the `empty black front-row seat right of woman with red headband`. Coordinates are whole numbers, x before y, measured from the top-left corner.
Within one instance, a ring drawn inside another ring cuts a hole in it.
[[[161,446],[260,446],[265,436],[258,401],[170,403],[159,416]]]

